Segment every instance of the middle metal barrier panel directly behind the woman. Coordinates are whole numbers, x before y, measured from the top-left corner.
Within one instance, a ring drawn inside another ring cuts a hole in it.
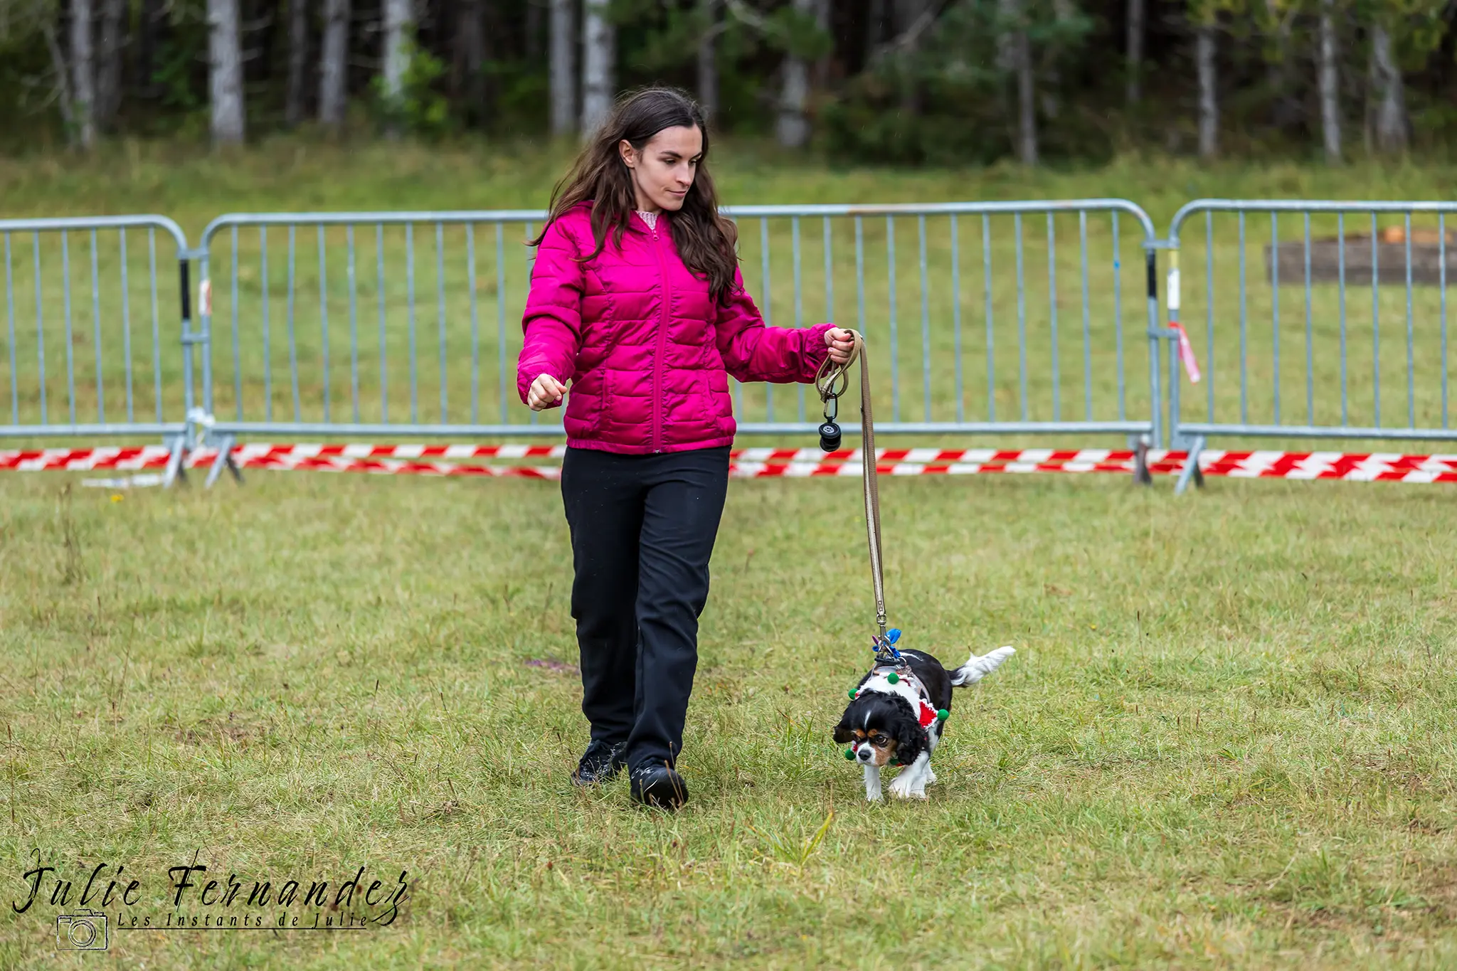
[[[889,373],[881,431],[1126,434],[1157,447],[1154,229],[1135,204],[724,214],[739,224],[746,284],[766,323],[836,320],[867,333]],[[203,408],[214,432],[559,434],[516,393],[535,252],[525,242],[543,217],[219,217],[198,250]],[[1059,237],[1077,243],[1059,247]],[[1148,381],[1126,380],[1129,368]],[[733,393],[745,434],[817,425],[803,386],[734,383]]]

